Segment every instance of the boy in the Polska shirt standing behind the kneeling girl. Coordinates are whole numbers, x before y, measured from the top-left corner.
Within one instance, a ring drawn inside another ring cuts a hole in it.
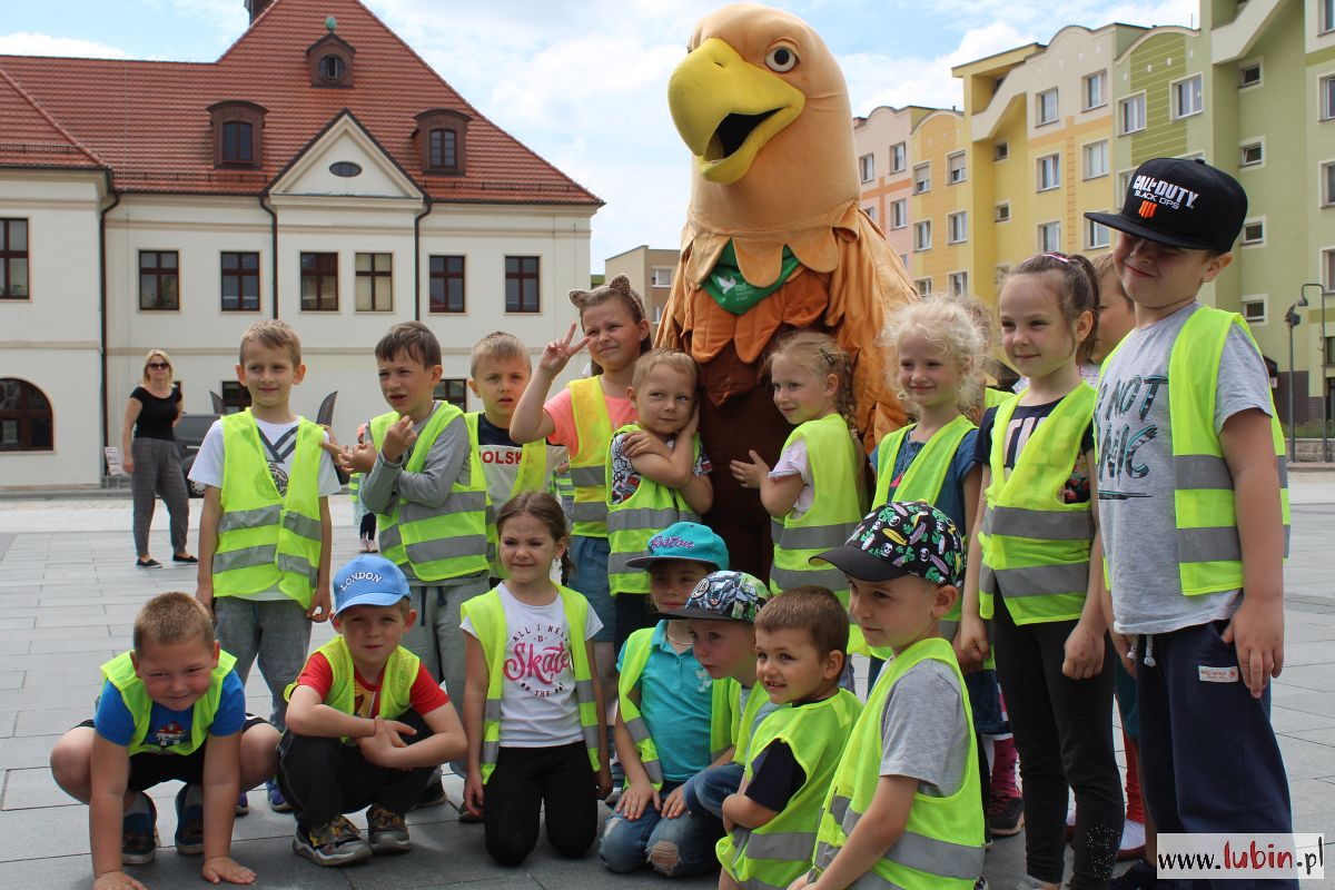
[[[482,460],[487,478],[487,560],[491,563],[489,583],[495,587],[505,579],[497,556],[497,519],[501,504],[525,491],[553,491],[557,470],[566,462],[562,446],[542,440],[519,444],[510,438],[510,419],[519,402],[533,362],[519,338],[503,331],[487,334],[473,347],[469,366],[469,388],[482,399],[482,411],[470,411],[469,440]]]

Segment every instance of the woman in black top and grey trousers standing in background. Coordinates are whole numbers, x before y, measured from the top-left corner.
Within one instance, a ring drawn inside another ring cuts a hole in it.
[[[125,422],[120,428],[120,452],[125,472],[134,476],[135,495],[135,564],[140,568],[160,568],[162,563],[148,554],[148,526],[154,520],[155,498],[162,496],[171,515],[172,562],[198,563],[186,550],[190,524],[190,500],[186,478],[176,452],[172,427],[180,419],[180,390],[172,386],[171,358],[162,350],[144,356],[140,384],[129,394]],[[135,431],[134,446],[129,431]]]

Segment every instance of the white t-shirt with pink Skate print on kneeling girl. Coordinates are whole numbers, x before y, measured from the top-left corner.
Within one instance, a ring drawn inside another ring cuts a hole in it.
[[[583,739],[575,669],[570,655],[570,627],[561,596],[546,606],[521,603],[497,586],[505,607],[506,652],[501,681],[501,739],[505,747],[555,747]],[[473,620],[459,628],[477,639]],[[585,619],[578,646],[602,630],[593,608]]]

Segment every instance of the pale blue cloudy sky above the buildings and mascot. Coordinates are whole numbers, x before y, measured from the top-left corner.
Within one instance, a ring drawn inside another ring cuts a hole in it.
[[[279,0],[280,3],[282,0]],[[676,248],[690,157],[668,79],[718,0],[362,0],[475,108],[593,191],[590,266]],[[777,0],[834,52],[854,115],[960,105],[951,67],[1068,24],[1192,25],[1197,0]],[[1060,12],[1055,16],[1053,7]],[[212,61],[246,29],[243,0],[5,3],[0,53]]]

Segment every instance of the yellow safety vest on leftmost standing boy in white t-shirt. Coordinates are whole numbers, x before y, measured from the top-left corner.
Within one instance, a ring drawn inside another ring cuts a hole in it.
[[[274,590],[310,608],[320,570],[320,442],[306,418],[287,495],[279,496],[250,408],[224,415],[222,516],[214,551],[214,596],[252,596]]]

